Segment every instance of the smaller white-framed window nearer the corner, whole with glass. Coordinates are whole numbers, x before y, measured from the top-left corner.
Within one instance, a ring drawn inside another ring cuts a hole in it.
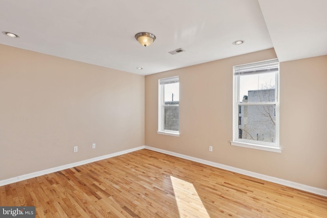
[[[159,80],[158,133],[179,136],[179,77]]]

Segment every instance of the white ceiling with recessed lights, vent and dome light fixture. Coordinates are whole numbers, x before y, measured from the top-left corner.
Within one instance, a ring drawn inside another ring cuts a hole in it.
[[[326,8],[326,0],[1,0],[0,32],[19,38],[0,34],[0,44],[139,75],[272,47],[282,62],[327,55]],[[143,47],[138,32],[156,40]]]

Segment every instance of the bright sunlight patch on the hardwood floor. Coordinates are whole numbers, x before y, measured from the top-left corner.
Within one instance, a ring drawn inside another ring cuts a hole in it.
[[[180,217],[210,218],[192,183],[173,176],[170,179]]]

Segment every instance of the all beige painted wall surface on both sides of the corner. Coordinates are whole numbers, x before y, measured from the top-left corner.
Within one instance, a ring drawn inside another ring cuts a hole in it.
[[[232,66],[272,58],[273,49],[144,78],[0,45],[0,180],[146,144],[327,189],[327,56],[281,63],[281,154],[230,146]],[[158,79],[177,75],[181,135],[159,135]]]

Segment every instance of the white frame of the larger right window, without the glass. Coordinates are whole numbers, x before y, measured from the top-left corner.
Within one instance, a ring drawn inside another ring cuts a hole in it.
[[[278,70],[273,70],[270,72],[275,72],[275,101],[274,102],[249,102],[240,103],[240,77],[242,74],[247,74],[247,70],[251,68],[251,74],[262,74],[258,70],[265,69],[267,71],[278,67]],[[256,71],[255,71],[256,70]],[[275,142],[264,142],[239,138],[239,106],[244,105],[275,105],[275,116],[276,116],[276,139]],[[239,146],[251,149],[258,149],[270,152],[281,153],[282,148],[279,146],[279,62],[277,59],[255,62],[251,64],[238,65],[233,67],[233,139],[230,142],[232,146]]]

